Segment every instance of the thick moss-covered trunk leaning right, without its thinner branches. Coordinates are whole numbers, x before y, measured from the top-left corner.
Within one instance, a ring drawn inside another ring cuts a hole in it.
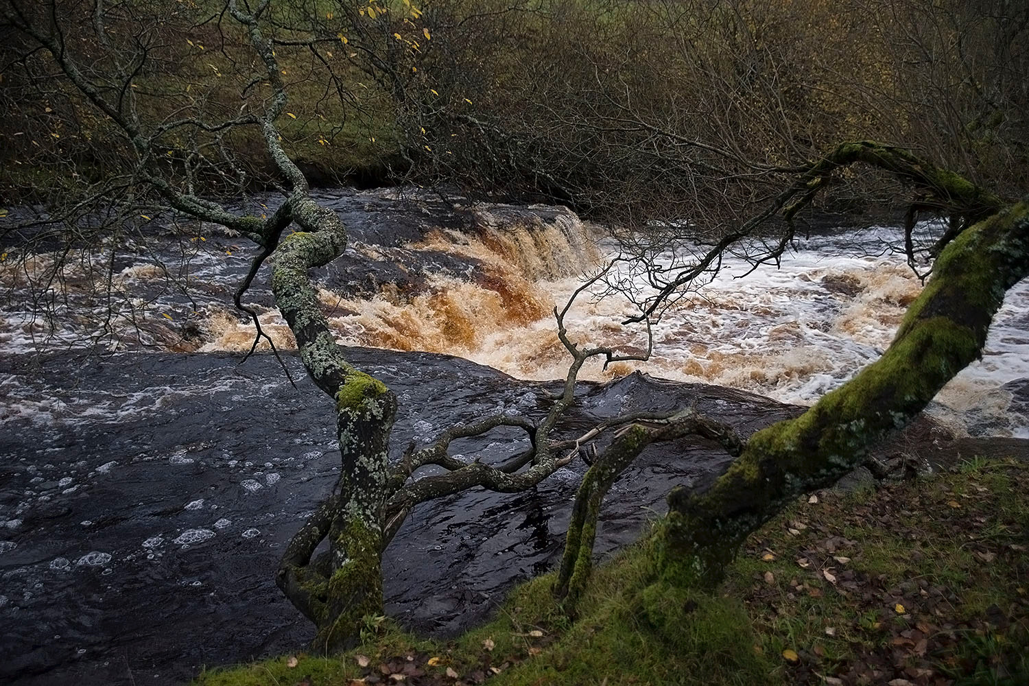
[[[899,159],[910,164],[907,154]],[[861,464],[980,356],[1004,293],[1029,276],[1029,203],[961,232],[933,272],[882,358],[801,417],[754,434],[707,492],[672,491],[659,536],[668,579],[716,582],[747,535],[797,494]]]

